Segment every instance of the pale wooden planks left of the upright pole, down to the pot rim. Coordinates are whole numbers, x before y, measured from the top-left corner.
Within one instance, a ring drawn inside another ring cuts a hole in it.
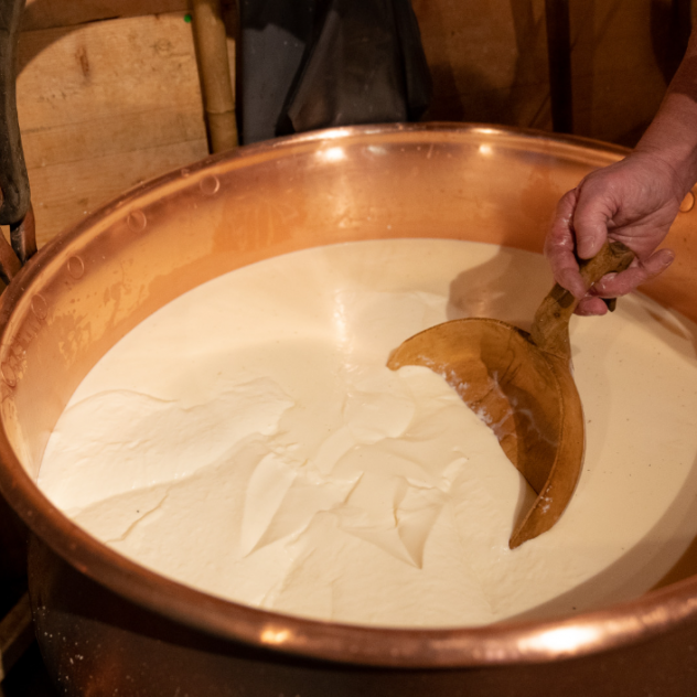
[[[184,13],[24,32],[19,53],[40,245],[131,186],[207,154]]]

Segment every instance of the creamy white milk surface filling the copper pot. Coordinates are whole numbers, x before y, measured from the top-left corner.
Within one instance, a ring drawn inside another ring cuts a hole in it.
[[[85,378],[39,485],[98,539],[201,590],[392,626],[545,618],[636,597],[697,535],[697,329],[635,294],[572,320],[577,492],[511,550],[532,492],[490,431],[389,352],[448,319],[529,328],[545,260],[493,245],[320,247],[210,281]]]

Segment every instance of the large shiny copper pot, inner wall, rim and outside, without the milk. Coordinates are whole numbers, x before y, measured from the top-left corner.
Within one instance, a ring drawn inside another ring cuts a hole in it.
[[[33,481],[47,436],[87,371],[190,288],[258,259],[345,240],[433,236],[539,250],[558,197],[621,154],[483,127],[320,131],[146,184],[42,249],[0,304],[0,487],[35,536],[37,637],[65,694],[697,694],[697,578],[544,623],[345,626],[167,580],[74,526]],[[676,221],[671,243],[679,260],[646,289],[693,320],[695,215]],[[676,578],[689,576],[690,564],[684,559]]]

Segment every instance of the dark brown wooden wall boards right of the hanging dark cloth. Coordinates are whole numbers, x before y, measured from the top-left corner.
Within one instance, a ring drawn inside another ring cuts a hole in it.
[[[412,6],[433,76],[427,118],[551,129],[545,0]],[[677,65],[685,23],[676,26],[671,17],[674,0],[571,0],[569,7],[573,132],[633,146]]]

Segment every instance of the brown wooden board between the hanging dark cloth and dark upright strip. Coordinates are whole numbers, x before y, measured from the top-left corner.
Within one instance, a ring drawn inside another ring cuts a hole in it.
[[[544,0],[414,0],[433,78],[426,119],[548,128]]]

